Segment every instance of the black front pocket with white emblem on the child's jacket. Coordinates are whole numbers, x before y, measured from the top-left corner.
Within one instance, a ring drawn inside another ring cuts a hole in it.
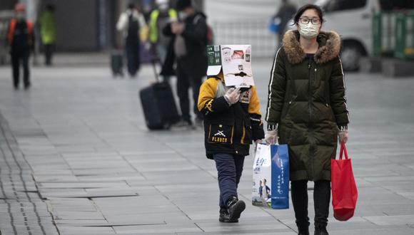
[[[234,127],[230,123],[211,122],[208,127],[208,142],[211,144],[233,144]]]

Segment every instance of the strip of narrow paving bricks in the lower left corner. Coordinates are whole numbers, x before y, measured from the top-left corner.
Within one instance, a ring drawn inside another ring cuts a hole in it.
[[[31,169],[0,115],[0,234],[58,234]]]

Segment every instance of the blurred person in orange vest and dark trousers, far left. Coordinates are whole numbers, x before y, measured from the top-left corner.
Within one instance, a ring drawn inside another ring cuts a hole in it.
[[[19,89],[20,64],[23,66],[24,88],[30,88],[29,56],[34,48],[33,24],[26,19],[26,8],[23,4],[14,6],[14,18],[9,23],[7,40],[10,46],[11,66],[13,70],[14,88]]]

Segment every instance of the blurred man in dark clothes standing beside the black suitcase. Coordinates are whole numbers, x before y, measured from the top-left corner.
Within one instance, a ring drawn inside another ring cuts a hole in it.
[[[188,89],[193,90],[193,112],[196,126],[203,123],[203,115],[197,109],[198,92],[207,71],[207,23],[206,15],[191,4],[191,0],[178,0],[178,21],[168,23],[163,29],[166,36],[173,36],[173,52],[177,61],[177,93],[182,120],[175,127],[191,127]]]

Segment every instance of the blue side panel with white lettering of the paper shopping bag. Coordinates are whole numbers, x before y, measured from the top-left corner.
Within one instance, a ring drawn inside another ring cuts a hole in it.
[[[271,145],[272,182],[271,207],[289,208],[289,152],[288,145]]]

